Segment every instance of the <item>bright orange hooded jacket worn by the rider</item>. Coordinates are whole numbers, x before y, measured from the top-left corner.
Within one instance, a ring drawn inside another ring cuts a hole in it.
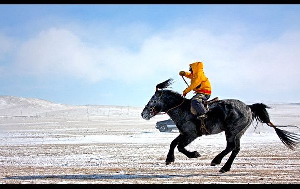
[[[191,79],[190,86],[187,87],[184,92],[187,94],[193,90],[195,93],[211,94],[211,85],[204,74],[203,63],[195,62],[189,65],[192,68],[192,72],[185,72],[184,76]]]

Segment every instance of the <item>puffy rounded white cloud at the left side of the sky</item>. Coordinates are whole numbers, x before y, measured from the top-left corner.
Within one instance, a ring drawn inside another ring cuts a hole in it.
[[[20,47],[17,64],[31,74],[69,74],[96,81],[105,75],[97,51],[72,32],[51,28]]]

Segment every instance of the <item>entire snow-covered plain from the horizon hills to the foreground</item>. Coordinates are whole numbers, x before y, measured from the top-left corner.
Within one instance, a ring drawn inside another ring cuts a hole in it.
[[[146,103],[146,102],[145,102]],[[275,125],[300,126],[300,104],[267,104]],[[0,96],[1,184],[300,184],[300,148],[289,150],[273,128],[259,124],[241,138],[231,170],[219,173],[212,159],[226,146],[224,133],[202,136],[175,149],[178,130],[161,133],[158,115],[141,118],[143,107],[71,106],[45,100]],[[285,128],[282,128],[285,129]],[[285,129],[300,133],[296,128]]]

